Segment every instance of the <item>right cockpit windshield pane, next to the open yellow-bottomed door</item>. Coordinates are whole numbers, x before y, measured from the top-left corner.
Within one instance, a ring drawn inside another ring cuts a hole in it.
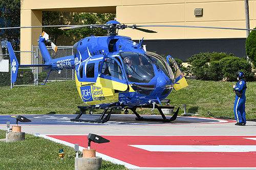
[[[166,60],[164,60],[163,57],[152,52],[146,52],[146,56],[152,59],[156,63],[156,65],[160,67],[160,69],[164,72],[164,74],[170,78],[170,80],[174,80],[173,71],[172,69],[170,69],[170,66],[168,65]]]

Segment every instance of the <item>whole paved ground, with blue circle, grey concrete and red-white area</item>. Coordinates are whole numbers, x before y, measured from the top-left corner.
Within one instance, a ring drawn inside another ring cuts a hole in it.
[[[7,121],[15,124],[11,116],[0,116],[0,129],[7,130]],[[255,122],[234,126],[234,120],[183,116],[170,123],[139,122],[119,114],[95,124],[70,122],[76,115],[24,116],[32,122],[18,123],[23,132],[71,147],[78,143],[80,150],[87,148],[89,133],[102,135],[110,142],[92,143],[96,156],[132,169],[256,169]]]

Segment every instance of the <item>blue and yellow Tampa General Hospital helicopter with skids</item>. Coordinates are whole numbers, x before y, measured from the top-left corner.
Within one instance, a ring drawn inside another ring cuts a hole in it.
[[[172,122],[177,118],[179,108],[172,117],[166,118],[161,109],[174,109],[174,107],[162,106],[162,103],[169,103],[166,97],[173,89],[180,90],[188,86],[181,69],[172,56],[168,55],[164,59],[156,53],[146,51],[145,46],[142,45],[143,38],[136,43],[130,37],[119,36],[119,29],[131,28],[147,33],[156,33],[139,27],[214,28],[166,25],[127,26],[116,20],[111,20],[104,25],[67,26],[59,29],[82,27],[107,29],[108,35],[92,35],[83,38],[73,45],[74,55],[52,59],[45,45],[45,42],[49,41],[49,35],[43,32],[39,36],[38,46],[45,64],[38,65],[19,65],[10,42],[7,43],[7,47],[11,60],[12,83],[16,81],[18,67],[45,67],[49,70],[49,74],[52,70],[75,69],[76,87],[85,106],[78,106],[80,113],[71,121],[94,123],[108,122],[113,109],[125,110],[125,114],[128,113],[127,109],[130,109],[137,116],[137,120]],[[52,47],[56,52],[56,45],[52,43]],[[140,116],[136,111],[140,107],[152,108],[152,110],[156,108],[162,119]],[[90,110],[89,114],[92,114],[93,109],[103,110],[98,119],[80,118],[87,110]]]

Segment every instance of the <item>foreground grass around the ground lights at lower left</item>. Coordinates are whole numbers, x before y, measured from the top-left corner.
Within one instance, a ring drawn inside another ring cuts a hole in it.
[[[6,131],[0,130],[0,139]],[[65,157],[59,158],[59,149]],[[0,169],[74,169],[75,151],[66,145],[26,134],[19,142],[0,141]],[[123,165],[102,160],[101,169],[127,169]]]

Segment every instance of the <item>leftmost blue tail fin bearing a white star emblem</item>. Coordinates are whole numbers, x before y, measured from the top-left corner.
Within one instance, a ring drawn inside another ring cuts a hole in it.
[[[12,44],[7,42],[7,48],[10,56],[11,61],[11,68],[12,68],[12,83],[16,82],[17,74],[18,74],[18,60],[14,54]]]

